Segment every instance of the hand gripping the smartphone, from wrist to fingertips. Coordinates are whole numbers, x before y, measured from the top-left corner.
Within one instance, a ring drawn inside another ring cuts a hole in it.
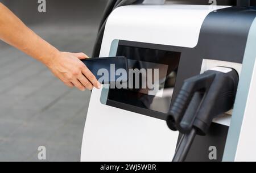
[[[101,88],[100,82],[80,60],[88,58],[84,53],[57,52],[50,62],[45,63],[52,73],[69,87],[76,86],[84,91],[93,86]]]

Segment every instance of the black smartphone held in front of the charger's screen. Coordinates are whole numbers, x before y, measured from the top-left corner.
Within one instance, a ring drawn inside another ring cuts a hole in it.
[[[126,57],[87,58],[81,61],[102,84],[127,82],[128,65]]]

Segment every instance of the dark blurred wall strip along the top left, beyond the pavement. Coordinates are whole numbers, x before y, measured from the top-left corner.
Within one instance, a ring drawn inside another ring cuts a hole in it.
[[[38,0],[3,0],[27,24],[86,22],[102,15],[107,0],[46,0],[47,12],[38,12]]]

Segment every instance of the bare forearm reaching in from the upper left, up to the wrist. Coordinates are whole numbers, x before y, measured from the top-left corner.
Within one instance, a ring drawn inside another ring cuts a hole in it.
[[[31,31],[2,3],[0,3],[0,39],[46,65],[59,53],[55,47]]]

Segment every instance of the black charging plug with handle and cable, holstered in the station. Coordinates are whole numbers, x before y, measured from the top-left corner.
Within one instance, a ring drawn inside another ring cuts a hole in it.
[[[167,117],[171,130],[183,134],[176,147],[174,162],[185,161],[196,134],[205,136],[212,120],[233,108],[238,73],[215,67],[186,79]]]

